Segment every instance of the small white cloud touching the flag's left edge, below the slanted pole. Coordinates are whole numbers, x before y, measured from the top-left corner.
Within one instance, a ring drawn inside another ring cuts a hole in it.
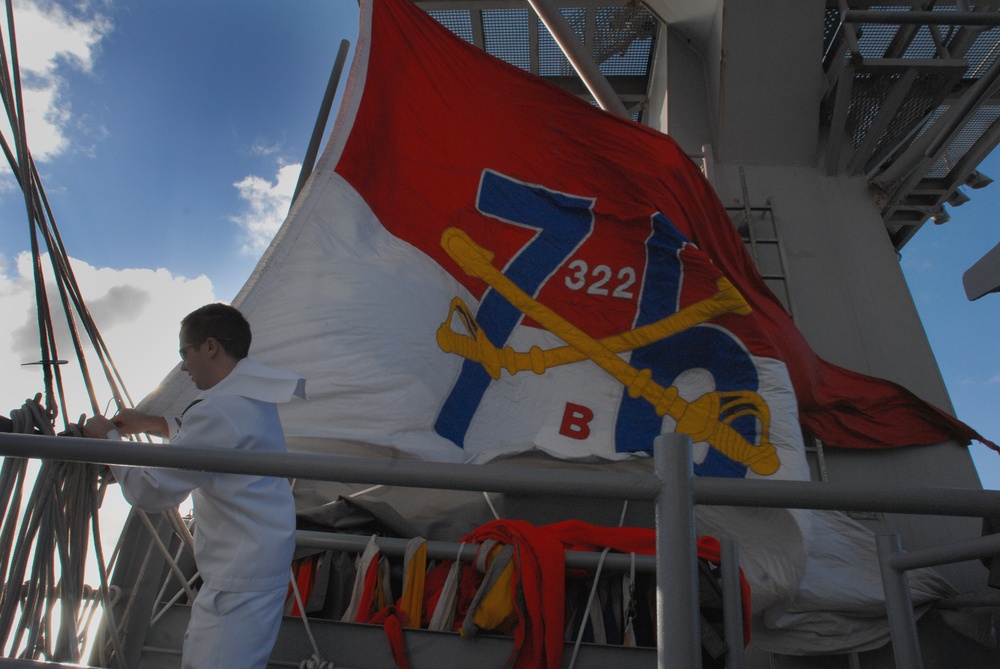
[[[233,184],[247,210],[233,217],[245,236],[243,253],[260,254],[281,227],[299,179],[301,165],[279,165],[274,181],[250,175]]]

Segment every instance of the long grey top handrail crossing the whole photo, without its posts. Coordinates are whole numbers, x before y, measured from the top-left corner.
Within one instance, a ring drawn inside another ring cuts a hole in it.
[[[513,494],[655,500],[660,481],[653,473],[594,472],[506,465],[467,465],[421,460],[346,457],[314,453],[264,453],[193,448],[106,439],[0,434],[0,455],[70,462],[166,467],[317,481],[399,485]],[[700,478],[695,503],[918,515],[1000,517],[1000,491],[971,488]]]

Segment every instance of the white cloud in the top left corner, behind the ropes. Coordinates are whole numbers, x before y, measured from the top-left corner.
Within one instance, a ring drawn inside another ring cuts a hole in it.
[[[91,70],[111,22],[88,3],[65,8],[51,0],[20,0],[14,3],[14,25],[28,146],[36,160],[44,161],[70,146],[66,131],[72,110],[62,72],[66,67]],[[5,12],[0,12],[0,29],[6,37]],[[13,146],[6,121],[0,132]]]

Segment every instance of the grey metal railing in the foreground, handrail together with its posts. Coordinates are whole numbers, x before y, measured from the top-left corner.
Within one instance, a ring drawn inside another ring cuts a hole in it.
[[[654,471],[650,474],[565,470],[552,471],[503,465],[461,465],[412,460],[386,460],[307,453],[263,453],[214,448],[148,445],[102,439],[67,439],[39,435],[0,434],[0,456],[42,458],[215,471],[259,476],[400,485],[417,488],[472,490],[498,493],[585,495],[601,499],[652,501],[655,504],[657,572],[657,665],[701,666],[698,622],[697,562],[695,546],[696,504],[828,510],[877,510],[883,512],[947,516],[1000,516],[1000,492],[960,488],[901,486],[877,491],[850,484],[799,481],[695,478],[691,440],[683,434],[665,434],[654,445]],[[885,535],[883,535],[884,537]],[[909,602],[905,571],[923,564],[943,564],[992,555],[1000,540],[985,537],[954,547],[903,553],[898,537],[879,538],[880,563],[886,587],[886,605],[897,667],[919,668],[919,646]],[[739,602],[733,601],[732,574],[737,547],[723,545],[723,588],[730,667],[742,666],[742,647],[732,643],[737,634]],[[735,571],[733,571],[735,570]],[[730,576],[725,577],[726,573]],[[684,574],[686,578],[678,578]],[[902,578],[900,585],[899,578]],[[727,589],[728,588],[728,589]],[[738,589],[738,586],[736,586]],[[898,591],[893,591],[896,588]],[[738,591],[738,590],[737,590]],[[738,595],[736,596],[738,599]],[[726,602],[728,599],[728,603]],[[670,606],[666,606],[669,602]],[[686,605],[681,605],[686,602]],[[908,617],[907,617],[908,611]],[[734,630],[730,633],[729,626]],[[739,635],[741,637],[741,635]],[[915,655],[913,654],[913,649]],[[901,664],[905,661],[905,664]]]

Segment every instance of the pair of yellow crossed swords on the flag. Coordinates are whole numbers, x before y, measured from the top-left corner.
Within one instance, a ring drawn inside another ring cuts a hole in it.
[[[493,254],[476,244],[464,231],[446,229],[441,235],[441,246],[466,274],[485,281],[521,313],[569,344],[546,351],[533,346],[528,353],[514,351],[509,346],[501,351],[486,338],[468,307],[456,297],[452,300],[447,319],[437,331],[438,346],[444,352],[479,362],[493,379],[500,378],[501,368],[510,374],[527,370],[542,374],[556,365],[592,360],[621,382],[629,395],[642,397],[653,405],[657,415],[669,415],[677,421],[677,431],[691,435],[693,441],[707,441],[757,474],[767,476],[778,470],[778,454],[769,440],[770,412],[760,395],[751,391],[712,392],[689,403],[679,396],[675,386],[664,388],[653,381],[653,373],[649,369],[637,370],[615,355],[659,341],[725,313],[749,314],[750,306],[728,279],[720,278],[716,282],[719,290],[710,298],[655,323],[596,340],[532,299],[504,276],[493,266]],[[462,320],[468,335],[451,329],[452,317],[456,315]],[[730,427],[732,421],[747,415],[761,422],[760,445],[749,443]]]

